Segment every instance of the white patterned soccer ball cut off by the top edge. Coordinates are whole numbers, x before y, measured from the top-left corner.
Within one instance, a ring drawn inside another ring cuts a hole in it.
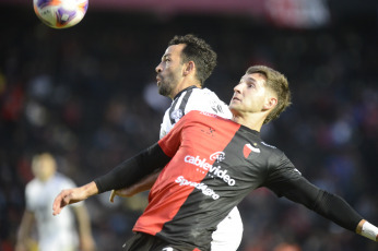
[[[52,28],[68,28],[85,15],[88,0],[33,0],[34,11]]]

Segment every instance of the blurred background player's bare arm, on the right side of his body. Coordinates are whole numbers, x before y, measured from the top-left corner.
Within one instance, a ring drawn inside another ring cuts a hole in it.
[[[74,206],[73,211],[76,215],[80,235],[81,250],[95,250],[95,241],[92,237],[91,219],[85,205]]]

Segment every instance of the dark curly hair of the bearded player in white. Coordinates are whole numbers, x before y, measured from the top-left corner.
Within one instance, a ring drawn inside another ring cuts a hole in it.
[[[185,36],[175,36],[168,46],[185,44],[181,52],[181,62],[193,61],[197,68],[197,79],[201,85],[211,75],[216,67],[216,52],[203,39],[188,34]]]

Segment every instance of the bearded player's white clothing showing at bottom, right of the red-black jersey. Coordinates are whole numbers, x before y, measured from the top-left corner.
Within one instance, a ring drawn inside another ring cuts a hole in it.
[[[235,206],[212,235],[211,251],[236,251],[243,238],[243,222]]]

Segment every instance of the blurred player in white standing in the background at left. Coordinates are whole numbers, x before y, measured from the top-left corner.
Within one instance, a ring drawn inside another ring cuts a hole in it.
[[[57,193],[64,188],[75,187],[71,179],[57,172],[55,157],[49,153],[35,155],[32,171],[35,178],[25,188],[26,208],[19,227],[15,251],[32,250],[34,226],[37,229],[36,243],[39,251],[95,250],[88,213],[83,203],[70,206],[71,210],[63,212],[60,217],[51,214],[51,204]]]

